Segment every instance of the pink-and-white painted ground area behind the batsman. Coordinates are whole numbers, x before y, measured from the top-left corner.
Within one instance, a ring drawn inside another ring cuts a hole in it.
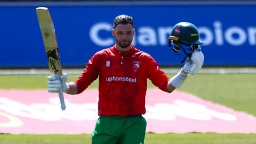
[[[214,97],[214,96],[213,96]],[[0,133],[92,133],[97,121],[98,90],[65,94],[62,111],[58,94],[45,90],[0,90]],[[256,118],[194,95],[149,89],[147,132],[256,133]]]

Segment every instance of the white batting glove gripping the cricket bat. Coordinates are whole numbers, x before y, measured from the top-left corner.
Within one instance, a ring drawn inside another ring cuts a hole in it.
[[[61,76],[52,75],[47,77],[48,91],[51,93],[67,92],[69,90],[68,83],[66,83],[67,79],[67,74],[65,73],[63,73]]]

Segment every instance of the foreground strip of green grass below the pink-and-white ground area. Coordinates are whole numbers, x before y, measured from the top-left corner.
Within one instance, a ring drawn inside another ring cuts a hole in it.
[[[187,134],[153,134],[147,133],[146,144],[253,144],[256,143],[256,134],[214,134],[214,133],[187,133]],[[0,144],[86,144],[91,143],[89,134],[55,134],[55,135],[0,135]],[[112,144],[112,143],[109,143]],[[131,143],[132,144],[132,143]]]

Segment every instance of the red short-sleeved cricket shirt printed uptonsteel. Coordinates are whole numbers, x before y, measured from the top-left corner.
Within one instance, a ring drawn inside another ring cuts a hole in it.
[[[115,45],[93,55],[75,81],[77,93],[83,92],[99,76],[98,115],[135,116],[146,113],[147,78],[167,91],[169,78],[157,62],[133,45],[119,52]]]

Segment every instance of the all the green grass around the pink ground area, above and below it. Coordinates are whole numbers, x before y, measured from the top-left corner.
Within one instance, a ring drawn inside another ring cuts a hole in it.
[[[69,75],[68,81],[74,81],[79,75]],[[171,77],[173,75],[169,75]],[[46,89],[47,75],[2,75],[1,89]],[[239,111],[256,116],[255,90],[256,74],[199,74],[189,76],[179,91],[185,91],[205,100],[226,105]],[[98,80],[89,89],[97,89]],[[148,87],[155,87],[150,82]],[[19,143],[91,143],[91,135],[10,135],[1,134],[0,144]],[[146,134],[146,144],[253,144],[256,134]],[[110,143],[111,144],[111,143]]]

